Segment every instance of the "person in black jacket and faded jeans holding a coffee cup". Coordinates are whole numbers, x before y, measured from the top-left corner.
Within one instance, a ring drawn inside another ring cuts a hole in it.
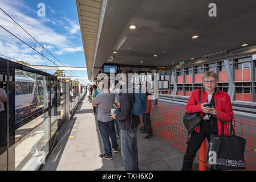
[[[121,80],[122,89],[119,112],[111,114],[111,117],[119,120],[121,155],[124,160],[124,169],[125,171],[138,171],[137,128],[140,124],[140,119],[131,113],[133,102],[135,102],[135,94],[128,93],[130,84],[130,87],[133,88],[132,83],[128,82],[129,72],[124,70],[122,73],[127,78],[127,82],[123,79]]]

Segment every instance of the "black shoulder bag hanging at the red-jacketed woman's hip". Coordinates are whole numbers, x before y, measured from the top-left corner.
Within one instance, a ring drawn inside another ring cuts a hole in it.
[[[199,91],[199,104],[201,104],[201,89]],[[185,128],[188,130],[188,139],[186,140],[186,143],[189,143],[189,140],[191,138],[191,134],[193,131],[198,127],[201,123],[202,119],[200,117],[200,113],[185,113],[183,115],[183,123]]]

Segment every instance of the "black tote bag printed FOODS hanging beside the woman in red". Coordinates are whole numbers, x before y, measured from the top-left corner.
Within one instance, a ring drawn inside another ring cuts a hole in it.
[[[224,136],[225,121],[222,119],[220,121],[221,135],[211,134],[206,160],[217,170],[245,169],[243,152],[245,151],[246,139],[235,135],[232,120],[230,121],[230,136]]]

